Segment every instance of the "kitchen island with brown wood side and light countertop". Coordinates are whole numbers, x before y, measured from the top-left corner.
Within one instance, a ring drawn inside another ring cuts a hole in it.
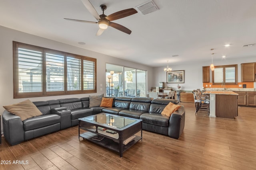
[[[237,93],[232,91],[206,91],[203,94],[210,94],[210,117],[234,119],[238,116]]]

